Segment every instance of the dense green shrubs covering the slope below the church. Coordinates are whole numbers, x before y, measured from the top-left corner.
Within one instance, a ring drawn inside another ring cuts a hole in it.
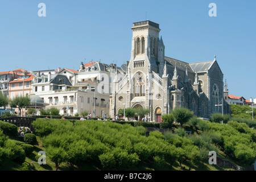
[[[37,119],[33,125],[38,144],[34,146],[32,154],[26,155],[25,161],[28,164],[33,162],[31,170],[38,171],[216,171],[225,168],[208,164],[208,152],[211,150],[217,151],[218,156],[226,159],[234,155],[233,162],[237,163],[239,159],[241,166],[246,166],[247,160],[255,159],[255,153],[252,152],[255,147],[254,130],[247,130],[237,123],[202,123],[201,130],[196,128],[197,132],[192,135],[183,135],[182,130],[176,134],[153,131],[146,137],[146,129],[142,126],[103,121]],[[240,148],[243,147],[239,144],[241,134],[243,138],[248,138],[243,141],[247,145],[247,151],[242,153],[246,158],[242,158],[240,154]],[[228,141],[234,136],[237,137],[237,142],[233,142],[234,147],[230,148]],[[46,152],[46,165],[38,164],[39,151]],[[22,165],[13,160],[4,160],[0,170],[21,171]]]

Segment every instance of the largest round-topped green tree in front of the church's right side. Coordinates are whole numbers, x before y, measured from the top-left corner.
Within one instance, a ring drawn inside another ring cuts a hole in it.
[[[175,122],[180,123],[182,127],[183,123],[187,123],[193,117],[193,112],[184,107],[178,107],[172,111],[172,115],[174,115]]]

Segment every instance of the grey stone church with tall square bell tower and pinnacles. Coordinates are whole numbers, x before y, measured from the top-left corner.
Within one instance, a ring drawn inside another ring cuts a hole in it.
[[[115,71],[112,82],[112,117],[124,107],[148,108],[147,117],[155,122],[176,107],[188,108],[201,118],[209,118],[212,113],[230,114],[230,106],[224,100],[228,89],[226,83],[224,88],[224,74],[216,56],[211,61],[185,63],[164,54],[158,23],[136,22],[131,30],[131,58],[126,74],[119,79]]]

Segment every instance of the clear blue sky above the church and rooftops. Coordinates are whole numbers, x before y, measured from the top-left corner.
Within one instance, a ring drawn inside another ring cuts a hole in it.
[[[46,17],[38,4],[46,4]],[[210,3],[217,17],[210,17]],[[255,0],[0,0],[0,71],[79,69],[130,60],[133,22],[160,24],[166,56],[188,63],[217,56],[229,94],[256,97]],[[86,59],[86,61],[85,61]]]

